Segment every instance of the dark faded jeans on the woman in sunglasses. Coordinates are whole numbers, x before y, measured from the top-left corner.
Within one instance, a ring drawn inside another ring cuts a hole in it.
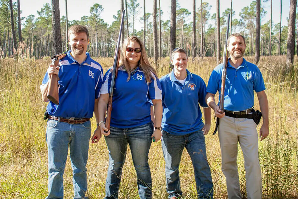
[[[121,129],[110,128],[111,134],[105,136],[109,150],[109,168],[105,183],[105,198],[118,198],[122,167],[125,162],[127,144],[131,149],[131,156],[136,169],[139,197],[152,198],[151,172],[148,164],[148,153],[153,133],[152,123],[139,127]]]

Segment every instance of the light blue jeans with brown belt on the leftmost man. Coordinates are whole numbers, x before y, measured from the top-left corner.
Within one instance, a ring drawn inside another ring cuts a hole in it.
[[[48,120],[46,127],[46,142],[48,145],[49,198],[63,198],[63,173],[70,150],[72,165],[72,182],[74,198],[85,197],[87,191],[87,159],[89,140],[91,137],[91,122],[83,124],[68,124],[56,120]]]

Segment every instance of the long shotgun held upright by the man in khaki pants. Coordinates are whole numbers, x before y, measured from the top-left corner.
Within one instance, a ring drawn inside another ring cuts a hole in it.
[[[228,65],[228,37],[229,37],[229,24],[230,24],[230,14],[228,14],[228,23],[226,28],[226,43],[224,45],[224,52],[223,52],[223,70],[221,73],[221,93],[220,93],[220,100],[219,100],[219,108],[221,109],[221,113],[224,113],[224,90],[225,90],[225,84],[226,84],[226,67]],[[216,119],[216,125],[215,130],[213,132],[213,135],[216,133],[217,128],[219,125],[219,118]]]

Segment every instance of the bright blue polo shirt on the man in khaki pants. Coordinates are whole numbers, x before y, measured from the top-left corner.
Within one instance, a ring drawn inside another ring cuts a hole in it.
[[[212,71],[207,92],[215,94],[218,91],[219,94],[221,93],[222,70],[223,64],[219,64]],[[265,89],[262,73],[256,65],[243,58],[242,64],[236,69],[228,62],[224,92],[225,110],[242,111],[252,108],[254,106],[254,91],[260,92]]]

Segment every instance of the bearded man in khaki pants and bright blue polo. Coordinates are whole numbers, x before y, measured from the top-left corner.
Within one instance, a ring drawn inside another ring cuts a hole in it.
[[[221,74],[223,64],[212,71],[208,81],[206,101],[220,118],[218,137],[221,146],[221,169],[226,176],[226,186],[229,198],[241,198],[238,167],[238,141],[243,152],[246,171],[246,191],[248,198],[262,197],[261,170],[258,156],[258,136],[256,126],[249,114],[254,106],[254,91],[263,115],[263,125],[260,128],[261,141],[269,134],[268,101],[265,84],[259,68],[243,58],[245,38],[234,33],[228,38],[230,58],[226,70],[224,92],[224,113],[220,113],[215,104],[215,93],[221,90]],[[218,102],[219,104],[219,102]]]

